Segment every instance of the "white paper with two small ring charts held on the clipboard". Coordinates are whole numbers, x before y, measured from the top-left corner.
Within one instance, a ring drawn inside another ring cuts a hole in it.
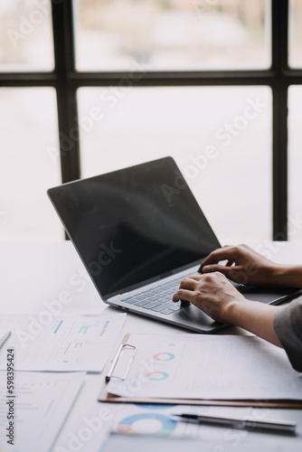
[[[108,386],[119,396],[302,400],[285,351],[258,337],[131,334],[127,343],[137,347],[127,380]]]

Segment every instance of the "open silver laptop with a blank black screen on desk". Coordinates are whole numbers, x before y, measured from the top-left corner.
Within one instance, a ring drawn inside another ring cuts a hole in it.
[[[182,278],[221,247],[172,157],[47,193],[105,303],[198,333],[226,326],[172,301]],[[291,288],[238,288],[272,304],[297,294]]]

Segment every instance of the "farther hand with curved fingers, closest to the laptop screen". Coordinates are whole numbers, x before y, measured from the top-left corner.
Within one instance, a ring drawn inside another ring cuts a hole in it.
[[[221,260],[227,260],[225,265]],[[247,245],[236,247],[225,246],[212,253],[203,260],[198,271],[212,273],[219,271],[227,278],[250,286],[269,286],[274,281],[274,270],[278,268],[271,260],[264,258]]]

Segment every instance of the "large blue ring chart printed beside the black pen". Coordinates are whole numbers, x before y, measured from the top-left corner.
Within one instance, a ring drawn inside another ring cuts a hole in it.
[[[141,413],[128,416],[118,424],[120,433],[147,433],[158,436],[169,436],[175,430],[175,420],[157,413]]]

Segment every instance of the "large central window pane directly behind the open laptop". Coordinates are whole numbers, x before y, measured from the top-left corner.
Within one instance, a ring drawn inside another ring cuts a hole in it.
[[[82,88],[82,176],[172,155],[220,240],[271,238],[269,88]]]

